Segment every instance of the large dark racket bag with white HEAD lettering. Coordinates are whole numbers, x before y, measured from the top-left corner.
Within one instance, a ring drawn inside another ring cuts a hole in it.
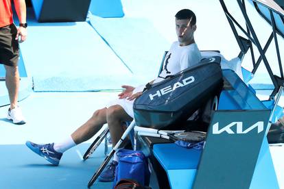
[[[196,66],[153,84],[134,101],[135,123],[161,129],[187,120],[220,93],[223,86],[220,60],[217,56],[206,58]]]

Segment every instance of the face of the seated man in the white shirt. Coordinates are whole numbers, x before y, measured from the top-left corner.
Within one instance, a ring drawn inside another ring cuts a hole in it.
[[[193,42],[193,33],[196,31],[196,25],[190,24],[191,19],[176,19],[176,35],[180,46],[189,45]]]

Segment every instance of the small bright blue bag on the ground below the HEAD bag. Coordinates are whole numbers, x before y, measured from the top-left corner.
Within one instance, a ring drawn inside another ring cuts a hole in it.
[[[145,157],[142,151],[119,149],[117,156],[119,157],[119,163],[115,170],[113,186],[121,179],[132,179],[141,184],[141,186],[149,186],[150,170],[147,157]]]

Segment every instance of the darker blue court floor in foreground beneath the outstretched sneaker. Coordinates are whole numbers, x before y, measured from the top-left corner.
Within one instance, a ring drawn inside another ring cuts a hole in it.
[[[60,166],[53,166],[43,158],[36,158],[23,144],[1,145],[0,188],[86,188],[92,173],[104,157],[102,148],[97,155],[83,162],[78,153],[84,153],[88,144],[68,151]],[[14,157],[11,157],[14,156]],[[110,183],[98,182],[94,188],[110,188]]]

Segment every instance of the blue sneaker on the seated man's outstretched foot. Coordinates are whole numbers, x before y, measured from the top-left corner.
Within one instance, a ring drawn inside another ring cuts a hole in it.
[[[62,157],[62,153],[57,152],[54,150],[54,143],[52,144],[35,144],[33,142],[27,141],[25,142],[27,147],[34,151],[34,153],[45,157],[45,160],[51,162],[51,164],[54,164],[58,166],[60,159]]]

